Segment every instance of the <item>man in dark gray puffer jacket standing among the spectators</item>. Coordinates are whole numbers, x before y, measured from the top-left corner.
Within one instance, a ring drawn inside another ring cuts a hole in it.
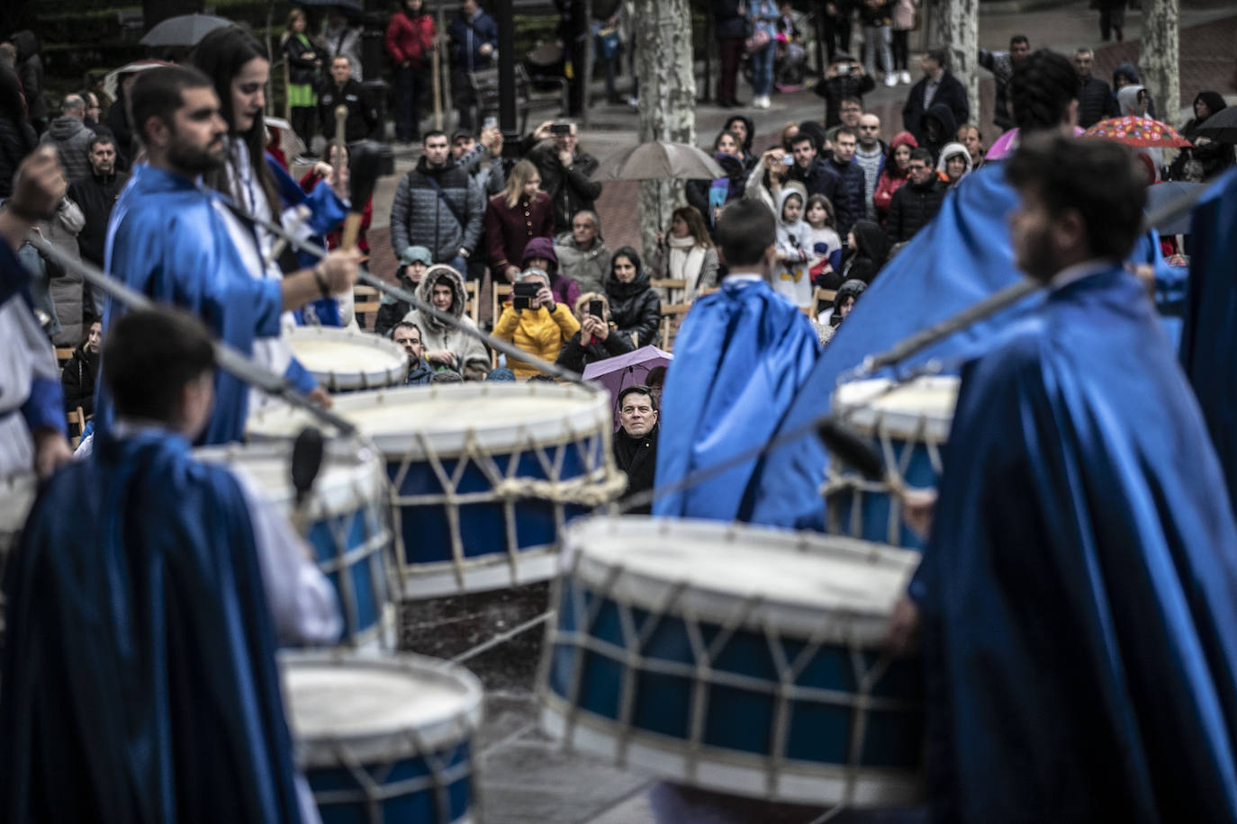
[[[481,187],[452,159],[445,132],[426,132],[422,148],[391,204],[391,247],[400,257],[409,246],[424,246],[434,263],[465,272],[481,240]]]

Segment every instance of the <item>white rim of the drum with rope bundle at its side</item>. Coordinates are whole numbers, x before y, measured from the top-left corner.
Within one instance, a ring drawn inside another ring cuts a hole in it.
[[[400,405],[407,404],[411,409],[430,405],[437,398],[450,394],[453,400],[481,400],[496,398],[501,401],[510,397],[544,397],[547,401],[578,401],[579,409],[563,410],[562,404],[547,403],[547,411],[543,418],[523,424],[511,424],[501,415],[495,415],[491,420],[481,421],[480,425],[455,429],[418,429],[417,415],[409,415],[407,426],[400,431],[364,432],[364,436],[372,440],[375,446],[385,457],[423,457],[426,450],[419,440],[423,437],[430,441],[434,455],[439,457],[455,457],[465,451],[465,436],[471,432],[476,441],[496,453],[511,450],[527,444],[532,439],[538,445],[552,445],[568,442],[570,440],[583,440],[595,435],[606,426],[612,426],[609,397],[602,392],[593,392],[571,384],[549,383],[503,383],[503,382],[473,382],[463,384],[429,384],[428,387],[386,387],[374,392],[362,392],[335,398],[333,411],[348,418],[348,413],[356,408],[369,408],[370,405]],[[501,411],[501,406],[496,406]],[[430,409],[432,411],[432,409]],[[286,418],[286,410],[278,410],[280,418]],[[273,432],[271,426],[265,426],[268,418],[273,419],[276,410],[255,410],[246,423],[246,437],[251,441],[286,441],[294,436],[293,432]],[[565,426],[564,426],[565,425]],[[574,434],[575,437],[568,437]]]

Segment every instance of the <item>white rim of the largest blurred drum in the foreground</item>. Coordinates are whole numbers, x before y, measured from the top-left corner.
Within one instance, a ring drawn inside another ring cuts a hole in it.
[[[919,552],[904,550],[886,544],[873,544],[861,539],[841,535],[825,535],[814,531],[787,530],[753,524],[721,523],[700,519],[680,518],[654,518],[648,515],[622,515],[618,518],[610,515],[591,515],[571,520],[567,524],[562,534],[562,561],[560,568],[564,578],[574,579],[580,586],[594,592],[605,586],[607,577],[615,571],[615,565],[609,560],[589,557],[583,542],[590,535],[599,536],[602,530],[606,536],[621,535],[625,540],[640,540],[642,535],[679,532],[685,535],[701,536],[705,540],[740,540],[760,537],[768,544],[767,549],[774,551],[795,552],[811,555],[816,549],[841,549],[847,553],[855,553],[861,558],[867,558],[871,563],[902,566],[907,583],[914,573],[922,558]],[[576,560],[579,556],[579,560]],[[616,586],[607,593],[611,600],[648,609],[664,612],[664,595],[680,582],[668,578],[656,578],[641,570],[625,567],[625,574],[616,578]],[[896,588],[898,592],[904,587]],[[698,620],[726,624],[732,620],[738,604],[742,602],[741,593],[726,592],[710,584],[689,584],[684,587],[680,595]],[[889,607],[892,608],[892,603]],[[821,610],[833,621],[821,620]],[[747,615],[743,625],[747,629],[763,631],[769,621],[778,630],[795,633],[802,636],[825,633],[833,642],[855,641],[861,646],[876,646],[881,644],[888,626],[891,613],[881,612],[878,607],[863,610],[842,610],[837,608],[825,608],[820,604],[809,604],[803,600],[776,600],[776,593],[764,593],[762,603]]]

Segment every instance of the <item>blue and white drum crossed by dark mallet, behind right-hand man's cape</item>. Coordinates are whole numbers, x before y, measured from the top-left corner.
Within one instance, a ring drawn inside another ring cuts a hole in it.
[[[846,425],[871,439],[884,466],[907,486],[935,487],[956,403],[957,378],[933,377],[896,387],[883,379],[846,383],[834,394],[833,408]],[[923,549],[923,539],[905,525],[902,503],[883,481],[867,481],[831,461],[821,492],[826,531]]]

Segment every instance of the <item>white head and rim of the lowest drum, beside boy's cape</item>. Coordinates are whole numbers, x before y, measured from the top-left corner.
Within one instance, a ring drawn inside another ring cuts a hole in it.
[[[481,683],[448,661],[288,652],[280,665],[307,767],[338,765],[336,745],[362,763],[449,747],[481,721]]]

